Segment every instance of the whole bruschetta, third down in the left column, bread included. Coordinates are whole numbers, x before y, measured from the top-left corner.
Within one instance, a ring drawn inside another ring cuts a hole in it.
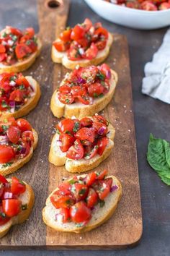
[[[0,174],[12,174],[30,161],[37,140],[27,120],[10,117],[0,121]]]

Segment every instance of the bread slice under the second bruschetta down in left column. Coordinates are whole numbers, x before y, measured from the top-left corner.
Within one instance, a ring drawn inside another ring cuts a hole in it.
[[[21,108],[19,108],[18,111],[15,111],[14,113],[11,113],[9,111],[2,111],[0,116],[0,121],[3,121],[4,119],[7,119],[9,117],[14,116],[15,119],[27,115],[30,111],[32,111],[33,108],[37,105],[39,99],[40,99],[40,85],[36,80],[34,80],[32,77],[27,76],[25,77],[27,81],[30,83],[32,88],[34,89],[34,94],[30,99],[28,99],[27,103],[24,104]]]

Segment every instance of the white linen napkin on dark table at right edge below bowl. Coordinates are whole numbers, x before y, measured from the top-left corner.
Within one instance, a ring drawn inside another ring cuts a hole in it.
[[[142,93],[170,103],[170,29],[144,72]]]

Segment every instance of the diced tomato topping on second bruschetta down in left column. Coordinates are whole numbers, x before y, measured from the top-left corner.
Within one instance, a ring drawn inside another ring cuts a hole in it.
[[[22,73],[0,74],[0,111],[14,113],[35,94]]]

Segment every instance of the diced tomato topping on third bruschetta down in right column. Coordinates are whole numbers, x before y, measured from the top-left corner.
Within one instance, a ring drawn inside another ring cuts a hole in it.
[[[102,155],[109,138],[108,121],[103,116],[84,117],[78,119],[63,119],[57,124],[59,133],[58,145],[66,157],[73,160],[91,159]]]

